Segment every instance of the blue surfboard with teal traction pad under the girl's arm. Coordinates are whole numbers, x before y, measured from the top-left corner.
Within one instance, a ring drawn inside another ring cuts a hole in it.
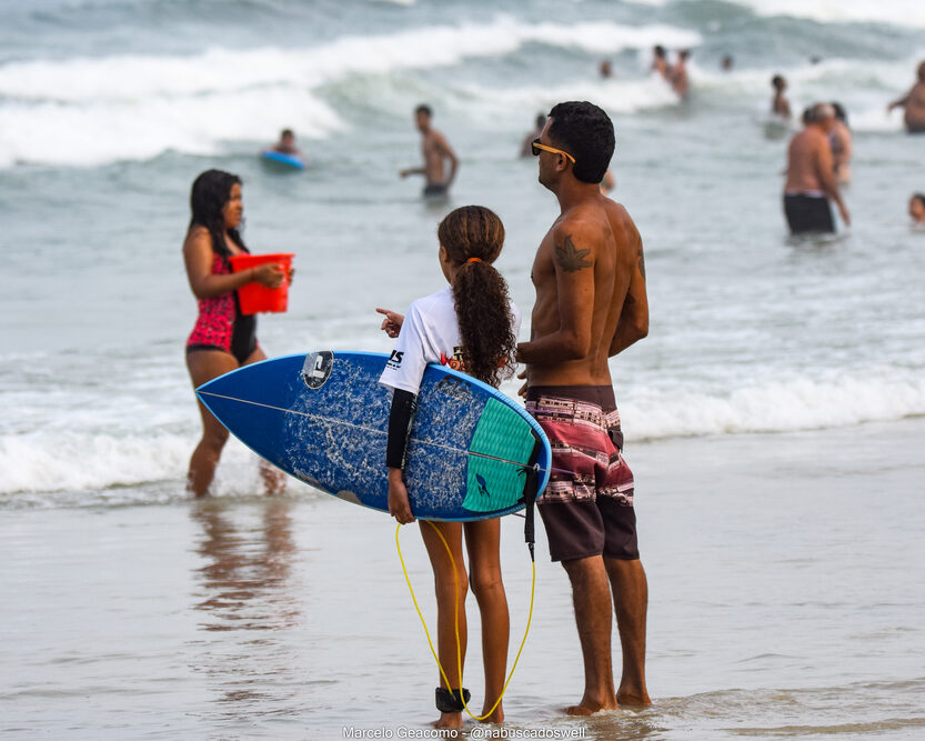
[[[316,489],[388,511],[385,443],[392,392],[388,356],[321,351],[244,366],[199,387],[209,410],[262,458]],[[549,480],[552,451],[539,424],[496,389],[428,366],[408,447],[412,513],[482,520],[524,507]]]

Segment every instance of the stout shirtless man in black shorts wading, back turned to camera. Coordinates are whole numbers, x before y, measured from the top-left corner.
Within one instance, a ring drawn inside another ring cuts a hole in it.
[[[838,193],[828,140],[835,128],[835,109],[828,103],[816,103],[807,118],[806,128],[791,139],[787,150],[784,213],[794,234],[834,232],[830,199],[838,207],[845,226],[851,224],[848,210]]]

